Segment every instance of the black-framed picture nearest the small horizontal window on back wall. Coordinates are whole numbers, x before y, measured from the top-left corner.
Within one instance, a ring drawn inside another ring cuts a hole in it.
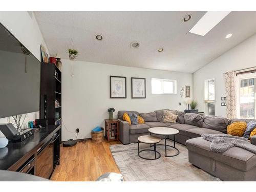
[[[132,77],[132,99],[146,98],[146,78]]]

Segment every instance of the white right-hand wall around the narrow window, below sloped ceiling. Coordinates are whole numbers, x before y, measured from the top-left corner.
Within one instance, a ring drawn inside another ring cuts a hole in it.
[[[221,106],[221,97],[226,96],[223,73],[254,66],[256,66],[256,35],[251,36],[241,44],[196,71],[193,74],[193,94],[194,99],[199,102],[199,111],[206,111],[204,104],[204,80],[215,78],[215,115],[225,117],[226,106]]]

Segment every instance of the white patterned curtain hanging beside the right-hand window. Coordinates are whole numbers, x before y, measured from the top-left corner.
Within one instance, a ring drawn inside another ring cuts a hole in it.
[[[236,98],[236,72],[229,71],[224,74],[226,97],[227,97],[227,118],[237,117],[237,98]]]

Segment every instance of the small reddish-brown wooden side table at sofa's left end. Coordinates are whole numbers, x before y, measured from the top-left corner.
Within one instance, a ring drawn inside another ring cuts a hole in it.
[[[105,119],[105,130],[108,141],[119,140],[119,121],[117,119]]]

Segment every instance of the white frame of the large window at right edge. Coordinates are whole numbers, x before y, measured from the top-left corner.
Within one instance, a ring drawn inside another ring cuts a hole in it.
[[[256,118],[256,74],[255,73],[246,73],[241,74],[236,77],[236,89],[237,89],[237,118],[248,119],[240,117],[240,83],[243,79],[254,78],[254,118]]]

